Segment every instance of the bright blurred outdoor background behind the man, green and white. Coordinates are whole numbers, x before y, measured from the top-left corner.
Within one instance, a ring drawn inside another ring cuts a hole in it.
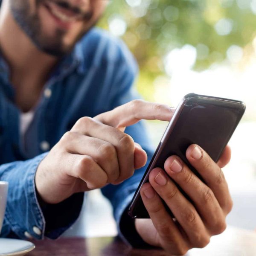
[[[227,223],[256,228],[256,0],[112,0],[99,26],[121,38],[140,66],[144,99],[174,107],[187,93],[242,100],[246,113],[223,170],[233,197]],[[147,122],[156,147],[166,122]],[[88,193],[65,236],[113,236],[111,206]]]

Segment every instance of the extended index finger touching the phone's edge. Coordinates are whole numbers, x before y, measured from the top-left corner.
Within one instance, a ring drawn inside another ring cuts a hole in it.
[[[141,119],[170,121],[174,111],[175,109],[168,105],[137,99],[94,118],[124,131],[126,126],[134,125]]]

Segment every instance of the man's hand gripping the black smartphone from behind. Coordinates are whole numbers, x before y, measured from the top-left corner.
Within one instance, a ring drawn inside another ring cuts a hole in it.
[[[205,247],[210,237],[226,228],[225,218],[232,209],[232,199],[221,170],[229,161],[227,146],[215,163],[198,145],[190,145],[186,157],[199,172],[203,183],[177,156],[169,157],[164,170],[155,168],[140,194],[150,219],[136,219],[135,227],[148,244],[162,247],[166,252],[183,255],[192,247]],[[180,192],[175,182],[189,196]],[[166,211],[161,198],[175,216]]]

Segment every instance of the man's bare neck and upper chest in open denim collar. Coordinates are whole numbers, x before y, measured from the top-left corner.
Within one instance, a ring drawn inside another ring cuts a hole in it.
[[[0,8],[0,50],[9,65],[15,104],[26,112],[37,104],[58,58],[35,47],[13,19],[8,4],[5,0]]]

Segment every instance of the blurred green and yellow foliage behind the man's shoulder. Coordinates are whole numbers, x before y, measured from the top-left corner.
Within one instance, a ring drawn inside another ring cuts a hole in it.
[[[168,52],[191,44],[197,49],[193,68],[207,69],[223,61],[231,45],[251,47],[256,35],[253,12],[256,0],[112,0],[99,26],[108,29],[113,17],[125,21],[122,39],[141,70],[138,89],[152,100],[152,81],[164,74]]]

